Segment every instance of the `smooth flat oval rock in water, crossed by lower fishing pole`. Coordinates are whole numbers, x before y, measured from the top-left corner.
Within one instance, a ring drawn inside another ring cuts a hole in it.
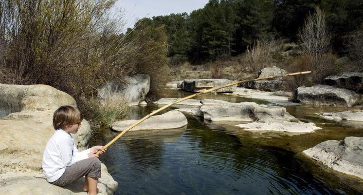
[[[121,120],[112,124],[114,131],[124,131],[138,120]],[[179,111],[169,111],[163,115],[152,116],[132,128],[130,131],[177,129],[188,124],[186,117]]]

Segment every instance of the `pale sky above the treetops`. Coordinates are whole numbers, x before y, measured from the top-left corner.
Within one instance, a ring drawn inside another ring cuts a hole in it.
[[[124,10],[125,29],[133,28],[144,17],[164,16],[203,8],[208,0],[117,0],[116,8]]]

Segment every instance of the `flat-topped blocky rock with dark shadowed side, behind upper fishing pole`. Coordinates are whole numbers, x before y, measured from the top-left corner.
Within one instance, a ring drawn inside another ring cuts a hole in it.
[[[205,89],[220,87],[233,83],[234,81],[228,79],[185,79],[183,82],[178,83],[178,88],[189,92],[201,92]],[[218,89],[217,93],[234,92],[236,85]]]

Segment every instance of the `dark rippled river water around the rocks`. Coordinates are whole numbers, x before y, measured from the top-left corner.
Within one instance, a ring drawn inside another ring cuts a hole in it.
[[[174,91],[165,97],[186,95]],[[246,101],[213,94],[201,98]],[[133,107],[129,118],[141,118],[157,108],[155,105]],[[299,136],[252,133],[187,116],[188,125],[184,129],[128,132],[100,159],[119,184],[116,195],[362,194],[361,181],[296,155],[328,139],[363,137],[362,128],[313,114],[331,108],[292,106],[287,109],[293,116],[315,122],[323,130]],[[105,144],[116,135],[105,129],[91,144]]]

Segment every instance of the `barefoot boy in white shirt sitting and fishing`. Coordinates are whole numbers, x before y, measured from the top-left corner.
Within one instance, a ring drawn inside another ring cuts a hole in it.
[[[105,152],[103,146],[93,146],[78,152],[71,134],[77,133],[83,119],[78,109],[61,106],[53,116],[54,135],[48,140],[43,154],[42,168],[49,183],[65,186],[85,176],[84,191],[89,195],[101,192],[97,188],[101,164],[96,153]]]

